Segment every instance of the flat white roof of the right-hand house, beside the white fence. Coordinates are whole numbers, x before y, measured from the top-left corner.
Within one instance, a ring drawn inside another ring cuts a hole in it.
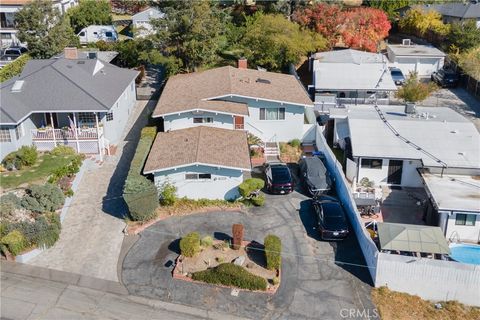
[[[400,136],[380,118],[375,106],[330,110],[330,117],[348,119],[344,131],[350,133],[353,156],[420,159],[426,167],[442,167],[440,159],[448,167],[480,168],[480,134],[459,113],[441,107],[416,107],[414,115],[405,114],[404,106],[379,106],[379,110]]]

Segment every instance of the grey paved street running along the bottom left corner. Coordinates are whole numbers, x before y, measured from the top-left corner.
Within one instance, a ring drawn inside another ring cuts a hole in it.
[[[225,314],[115,292],[118,288],[112,290],[112,284],[101,279],[82,281],[86,277],[41,267],[23,267],[2,263],[2,320],[233,319]]]

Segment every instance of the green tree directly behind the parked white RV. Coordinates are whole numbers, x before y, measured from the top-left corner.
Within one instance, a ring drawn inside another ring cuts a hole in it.
[[[110,25],[110,3],[107,0],[81,0],[78,6],[68,10],[72,28],[76,33],[90,25]]]

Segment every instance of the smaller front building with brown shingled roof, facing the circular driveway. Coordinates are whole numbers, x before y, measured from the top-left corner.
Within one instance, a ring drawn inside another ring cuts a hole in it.
[[[174,184],[179,197],[231,200],[250,170],[244,131],[196,126],[158,133],[143,173],[153,174],[159,189]]]

